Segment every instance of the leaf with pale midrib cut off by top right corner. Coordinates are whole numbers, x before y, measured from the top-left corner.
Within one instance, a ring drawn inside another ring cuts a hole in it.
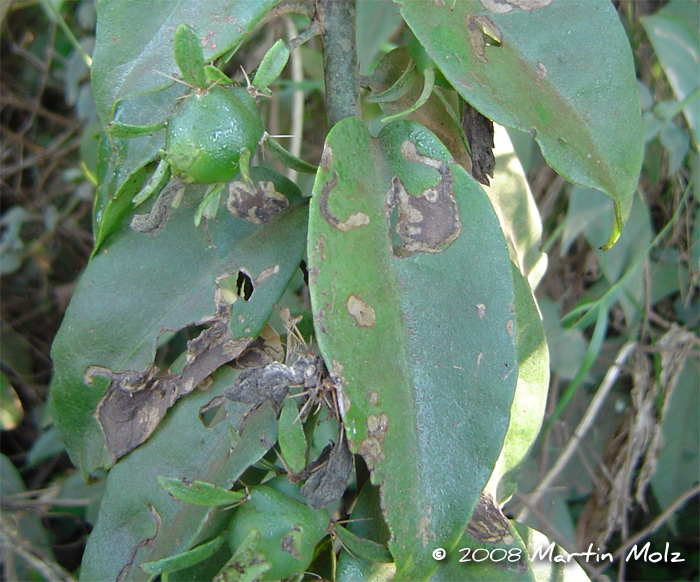
[[[676,98],[683,102],[693,139],[700,144],[700,8],[695,2],[674,0],[641,21]]]

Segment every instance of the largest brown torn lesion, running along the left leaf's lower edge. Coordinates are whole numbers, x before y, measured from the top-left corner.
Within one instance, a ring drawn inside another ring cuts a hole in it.
[[[95,376],[109,379],[95,419],[113,463],[145,442],[179,398],[238,357],[253,341],[252,337],[233,337],[231,307],[223,301],[219,289],[215,302],[214,315],[199,322],[209,327],[187,342],[186,361],[179,374],[162,373],[153,363],[143,371],[114,372],[101,366],[85,370],[83,381],[87,385],[92,385]]]

